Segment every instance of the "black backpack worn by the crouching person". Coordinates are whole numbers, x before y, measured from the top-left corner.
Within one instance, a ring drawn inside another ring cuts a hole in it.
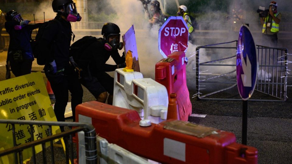
[[[83,38],[77,40],[70,46],[70,56],[73,57],[74,61],[78,64],[79,67],[81,68],[82,66],[84,67],[84,65],[86,65],[84,62],[86,62],[87,64],[90,62],[83,60],[81,54],[88,46],[99,40],[102,40],[102,38],[97,39],[94,36],[84,36]]]

